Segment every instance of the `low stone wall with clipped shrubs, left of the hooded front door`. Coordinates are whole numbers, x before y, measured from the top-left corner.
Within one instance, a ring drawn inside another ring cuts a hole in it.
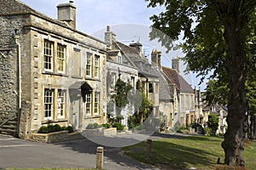
[[[55,143],[68,139],[68,131],[55,133],[32,133],[31,140],[39,143]]]

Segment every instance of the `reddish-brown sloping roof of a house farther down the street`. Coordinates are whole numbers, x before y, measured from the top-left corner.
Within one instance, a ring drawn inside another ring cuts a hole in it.
[[[189,83],[183,77],[181,77],[175,69],[162,66],[162,71],[170,81],[175,83],[175,86],[180,93],[194,94],[194,89],[191,88]]]

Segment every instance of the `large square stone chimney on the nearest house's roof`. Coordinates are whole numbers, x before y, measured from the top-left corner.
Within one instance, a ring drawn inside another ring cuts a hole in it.
[[[58,8],[58,20],[66,21],[67,24],[73,29],[76,28],[76,7],[73,1],[69,3],[61,3]]]

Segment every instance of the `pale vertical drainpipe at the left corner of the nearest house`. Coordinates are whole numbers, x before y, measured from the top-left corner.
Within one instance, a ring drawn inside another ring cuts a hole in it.
[[[19,66],[19,70],[18,70],[18,77],[19,77],[19,111],[21,110],[21,62],[20,62],[20,43],[18,42],[19,40],[18,35],[15,35],[15,44],[18,47],[18,66]]]

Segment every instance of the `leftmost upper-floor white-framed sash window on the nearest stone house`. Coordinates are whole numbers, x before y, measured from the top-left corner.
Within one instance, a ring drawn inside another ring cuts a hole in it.
[[[44,69],[53,71],[53,42],[44,40]]]

